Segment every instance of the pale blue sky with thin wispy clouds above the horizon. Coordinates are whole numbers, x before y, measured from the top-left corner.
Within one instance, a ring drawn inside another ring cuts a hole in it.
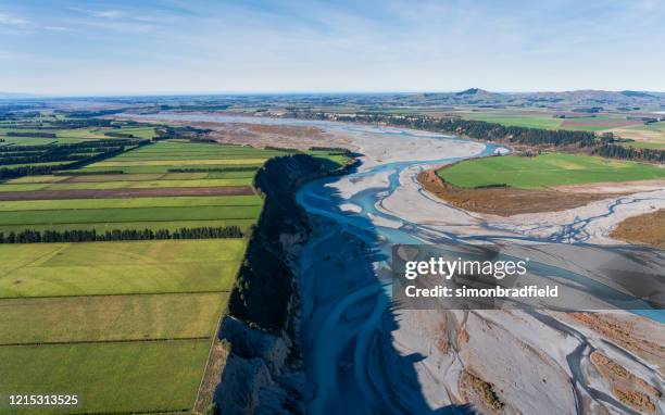
[[[665,91],[664,22],[665,0],[0,0],[0,91]]]

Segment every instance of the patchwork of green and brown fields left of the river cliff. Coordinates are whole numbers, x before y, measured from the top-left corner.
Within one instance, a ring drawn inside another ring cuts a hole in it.
[[[0,390],[81,401],[39,413],[190,411],[261,213],[252,178],[281,154],[170,139],[2,181]]]

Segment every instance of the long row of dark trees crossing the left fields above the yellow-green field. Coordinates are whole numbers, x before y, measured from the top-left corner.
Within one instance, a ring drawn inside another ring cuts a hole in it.
[[[242,238],[238,226],[168,229],[113,229],[98,234],[95,229],[33,230],[26,229],[8,235],[0,232],[0,243],[48,243],[48,242],[106,242],[159,239],[218,239]]]

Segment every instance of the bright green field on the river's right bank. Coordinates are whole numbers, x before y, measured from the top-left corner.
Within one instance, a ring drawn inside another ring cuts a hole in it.
[[[469,160],[441,168],[438,175],[460,187],[507,185],[537,189],[559,185],[665,178],[665,169],[628,161],[552,153],[535,158],[507,155]]]

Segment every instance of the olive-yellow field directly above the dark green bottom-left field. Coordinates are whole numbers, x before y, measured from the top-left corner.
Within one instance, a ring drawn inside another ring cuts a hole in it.
[[[0,301],[0,344],[208,338],[228,293]]]

